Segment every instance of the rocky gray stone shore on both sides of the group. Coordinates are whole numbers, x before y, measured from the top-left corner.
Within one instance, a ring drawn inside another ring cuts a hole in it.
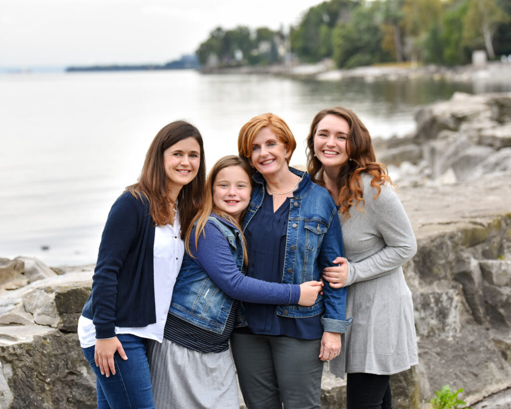
[[[425,409],[445,384],[474,408],[509,407],[511,94],[456,94],[416,120],[415,134],[375,141],[418,244],[404,271],[420,362],[391,377],[394,407]],[[0,259],[0,407],[96,406],[76,334],[93,269]],[[322,407],[344,397],[325,370]]]

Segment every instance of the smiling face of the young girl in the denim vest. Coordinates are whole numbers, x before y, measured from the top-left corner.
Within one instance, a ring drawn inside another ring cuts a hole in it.
[[[217,173],[213,183],[213,203],[238,222],[251,193],[250,177],[241,166],[229,166]]]

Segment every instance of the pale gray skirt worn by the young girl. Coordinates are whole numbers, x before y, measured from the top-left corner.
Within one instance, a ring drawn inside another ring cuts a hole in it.
[[[238,383],[230,350],[197,352],[149,340],[147,358],[157,409],[239,409]]]

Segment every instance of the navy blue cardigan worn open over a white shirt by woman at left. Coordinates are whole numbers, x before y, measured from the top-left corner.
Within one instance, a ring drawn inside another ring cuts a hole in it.
[[[108,214],[92,292],[82,310],[96,326],[96,338],[114,337],[115,326],[145,327],[156,322],[153,247],[148,201],[123,193]]]

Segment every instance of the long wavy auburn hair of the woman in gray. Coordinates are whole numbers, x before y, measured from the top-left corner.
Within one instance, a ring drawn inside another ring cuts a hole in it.
[[[373,175],[371,185],[378,190],[373,199],[380,194],[381,185],[386,183],[393,185],[393,183],[388,175],[387,167],[376,162],[375,151],[367,128],[355,112],[341,106],[323,109],[312,120],[311,130],[307,137],[307,171],[311,175],[312,181],[324,186],[322,164],[314,156],[314,135],[319,121],[327,115],[343,118],[350,126],[350,132],[346,138],[346,153],[350,159],[341,166],[337,175],[338,203],[341,207],[339,213],[342,213],[344,218],[349,218],[351,206],[355,205],[358,210],[362,210],[364,207],[360,179],[365,173]]]

